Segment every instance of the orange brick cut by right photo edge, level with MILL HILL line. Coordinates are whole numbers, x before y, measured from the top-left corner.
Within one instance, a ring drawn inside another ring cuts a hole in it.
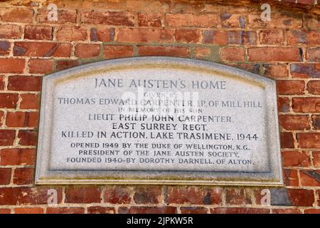
[[[292,98],[292,108],[296,113],[319,113],[320,98]]]

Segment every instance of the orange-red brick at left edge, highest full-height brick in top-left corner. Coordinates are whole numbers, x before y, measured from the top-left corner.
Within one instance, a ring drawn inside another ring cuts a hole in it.
[[[1,8],[0,18],[1,21],[31,23],[33,19],[33,10],[15,7]]]

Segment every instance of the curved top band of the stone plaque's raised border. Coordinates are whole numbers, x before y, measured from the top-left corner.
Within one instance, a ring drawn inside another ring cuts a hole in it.
[[[209,61],[166,56],[117,58],[98,61],[51,73],[43,78],[45,81],[55,80],[60,82],[78,77],[92,76],[98,73],[107,73],[108,71],[129,71],[137,68],[168,68],[206,74],[218,74],[235,80],[255,83],[257,86],[275,86],[275,81],[272,78],[265,78],[239,68]]]

